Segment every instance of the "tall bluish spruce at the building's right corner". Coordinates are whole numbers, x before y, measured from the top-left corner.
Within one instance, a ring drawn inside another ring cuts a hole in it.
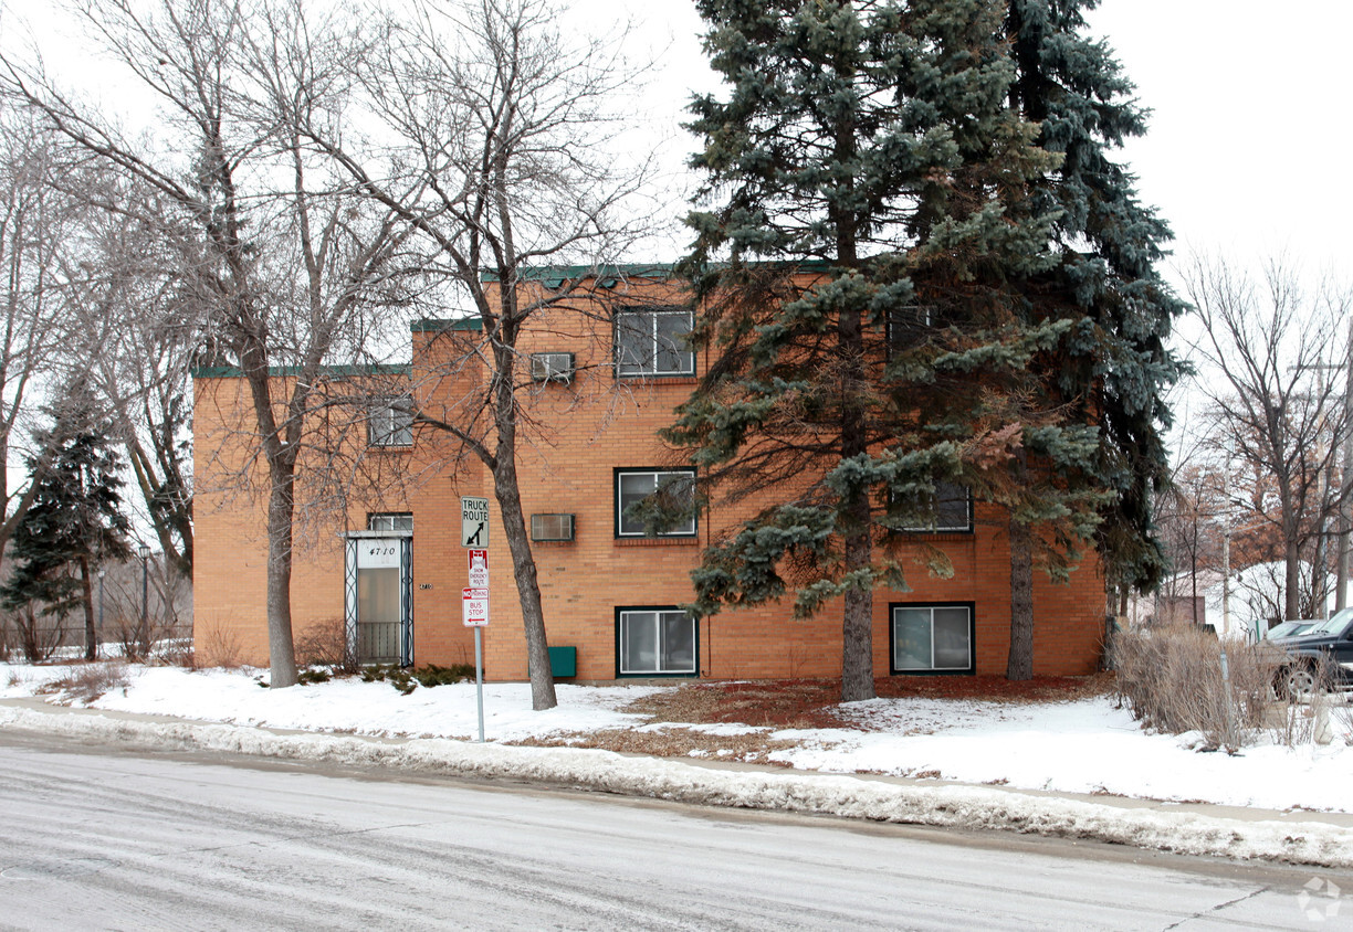
[[[1157,263],[1170,238],[1143,207],[1131,174],[1111,157],[1146,124],[1132,85],[1103,42],[1084,35],[1099,0],[1009,0],[1016,65],[1011,103],[1040,126],[1038,143],[1062,157],[1038,181],[1038,209],[1053,212],[1057,263],[1026,282],[1031,312],[1072,330],[1046,366],[1068,420],[1099,427],[1084,469],[1107,493],[1095,543],[1120,589],[1154,588],[1164,567],[1150,511],[1168,478],[1164,390],[1180,374],[1166,348],[1184,311]],[[1032,675],[1032,615],[1012,617],[1008,675]]]

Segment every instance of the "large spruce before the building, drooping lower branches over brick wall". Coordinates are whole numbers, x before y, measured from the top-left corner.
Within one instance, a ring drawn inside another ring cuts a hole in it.
[[[1036,319],[1019,288],[1057,262],[1057,208],[1034,195],[1059,158],[1009,105],[1004,7],[700,9],[731,85],[693,105],[694,166],[725,200],[691,215],[682,266],[713,362],[667,438],[708,498],[756,513],[705,551],[694,608],[794,590],[808,616],[840,597],[842,694],[869,698],[873,592],[905,589],[889,529],[916,523],[938,482],[1051,521],[1055,542],[1093,520],[1084,488],[1007,469],[1039,431],[1068,458],[1093,434],[1049,434],[1059,409],[1031,373],[1070,324]]]

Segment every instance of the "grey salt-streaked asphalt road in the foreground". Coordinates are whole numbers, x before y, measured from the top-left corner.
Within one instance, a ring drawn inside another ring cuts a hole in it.
[[[1349,923],[1353,897],[1330,900],[1322,886],[1299,901],[1312,878],[1353,894],[1353,877],[1310,869],[0,731],[5,929]]]

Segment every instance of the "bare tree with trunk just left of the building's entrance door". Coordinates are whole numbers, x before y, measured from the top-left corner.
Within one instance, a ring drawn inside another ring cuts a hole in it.
[[[304,143],[302,126],[337,126],[348,69],[364,54],[357,18],[310,15],[302,0],[85,0],[76,12],[103,51],[160,103],[150,136],[130,138],[41,69],[4,59],[8,92],[70,143],[138,178],[196,226],[184,285],[206,309],[219,361],[242,374],[268,527],[268,642],[273,686],[296,682],[291,566],[307,416],[333,362],[371,332],[398,250],[395,217],[352,196]],[[291,377],[273,378],[284,365]]]

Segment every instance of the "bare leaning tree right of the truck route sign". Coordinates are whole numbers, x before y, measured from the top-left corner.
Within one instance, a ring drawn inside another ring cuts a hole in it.
[[[614,108],[632,77],[618,68],[624,42],[606,35],[575,46],[556,14],[544,0],[418,4],[411,22],[382,26],[380,55],[359,69],[384,142],[359,149],[330,126],[307,127],[367,197],[417,232],[423,271],[441,296],[465,300],[478,321],[476,331],[446,335],[451,358],[428,378],[451,382],[467,369],[482,378],[419,420],[492,477],[536,709],[556,700],[517,480],[521,444],[540,436],[518,340],[549,313],[589,313],[591,271],[644,228],[618,211],[643,169],[618,167],[606,147],[624,128]],[[525,285],[548,265],[576,269],[549,288],[538,277]]]

